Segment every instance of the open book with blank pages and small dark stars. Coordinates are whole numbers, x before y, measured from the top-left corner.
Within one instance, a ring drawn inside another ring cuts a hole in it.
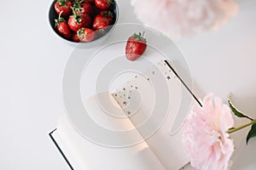
[[[116,143],[84,138],[66,116],[55,139],[76,170],[179,169],[189,162],[182,135],[192,102],[189,90],[162,60],[143,74],[132,75],[113,92],[85,99],[84,107],[98,126],[123,134],[96,136]]]

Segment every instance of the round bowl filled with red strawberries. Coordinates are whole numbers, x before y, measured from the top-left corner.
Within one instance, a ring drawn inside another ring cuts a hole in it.
[[[98,46],[108,37],[118,17],[115,0],[54,0],[49,8],[50,27],[73,47]]]

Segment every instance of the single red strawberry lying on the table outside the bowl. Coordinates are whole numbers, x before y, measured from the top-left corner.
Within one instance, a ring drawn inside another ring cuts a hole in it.
[[[147,48],[147,40],[143,37],[141,32],[134,33],[133,36],[128,38],[125,47],[125,55],[126,58],[134,61],[135,59],[139,58]]]

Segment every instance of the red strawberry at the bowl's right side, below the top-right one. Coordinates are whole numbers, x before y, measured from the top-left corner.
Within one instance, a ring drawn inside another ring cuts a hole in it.
[[[112,18],[104,16],[102,14],[97,14],[92,23],[92,29],[100,30],[111,25]]]

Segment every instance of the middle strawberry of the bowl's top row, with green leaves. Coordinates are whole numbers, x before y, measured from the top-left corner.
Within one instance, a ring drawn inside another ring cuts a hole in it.
[[[94,8],[91,3],[84,3],[83,0],[76,0],[73,3],[73,8],[77,12],[77,14],[90,14],[90,16],[94,15]]]

